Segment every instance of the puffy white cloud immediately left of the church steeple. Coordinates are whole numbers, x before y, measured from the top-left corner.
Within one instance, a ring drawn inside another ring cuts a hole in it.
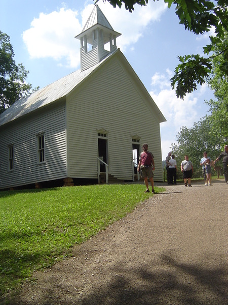
[[[78,66],[80,44],[74,36],[82,31],[82,26],[77,15],[77,11],[61,8],[58,12],[40,13],[39,18],[34,18],[31,27],[23,33],[30,57],[55,60],[64,57],[69,66]]]

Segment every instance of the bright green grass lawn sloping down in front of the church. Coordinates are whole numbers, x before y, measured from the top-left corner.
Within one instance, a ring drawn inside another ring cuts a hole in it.
[[[0,295],[153,196],[144,190],[125,184],[0,192]]]

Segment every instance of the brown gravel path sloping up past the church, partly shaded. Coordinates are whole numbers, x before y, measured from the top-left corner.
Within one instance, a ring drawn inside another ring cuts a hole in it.
[[[228,304],[228,185],[165,186],[11,304]]]

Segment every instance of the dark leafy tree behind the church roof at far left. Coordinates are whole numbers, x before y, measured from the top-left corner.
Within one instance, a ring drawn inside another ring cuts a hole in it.
[[[0,31],[0,113],[17,100],[37,90],[26,84],[28,71],[22,64],[15,63],[10,37]]]

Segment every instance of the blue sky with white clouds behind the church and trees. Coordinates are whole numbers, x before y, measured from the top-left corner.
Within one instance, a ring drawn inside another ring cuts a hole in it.
[[[211,33],[197,36],[186,31],[175,7],[168,9],[162,0],[149,0],[146,7],[137,5],[133,13],[102,0],[98,6],[122,34],[117,47],[167,120],[160,124],[165,160],[181,127],[191,128],[209,114],[205,100],[214,96],[206,84],[180,100],[169,80],[179,64],[177,56],[203,55]],[[22,63],[29,71],[26,82],[33,88],[43,88],[80,69],[80,40],[74,37],[82,32],[93,7],[93,0],[0,0],[0,31],[10,36],[16,64]],[[153,147],[149,150],[153,152]]]

